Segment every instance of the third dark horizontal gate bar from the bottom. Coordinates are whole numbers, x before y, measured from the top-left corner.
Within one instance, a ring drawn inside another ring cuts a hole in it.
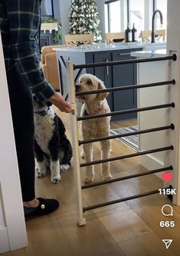
[[[129,155],[120,155],[114,158],[107,158],[107,159],[100,159],[97,161],[90,161],[87,163],[83,163],[80,164],[80,167],[85,167],[85,166],[90,166],[90,165],[98,165],[101,163],[106,163],[107,161],[116,161],[116,160],[121,160],[121,159],[126,159],[126,158],[133,158],[139,155],[147,155],[147,154],[152,154],[155,152],[160,152],[160,151],[166,151],[166,150],[173,150],[173,146],[169,146],[169,147],[163,147],[163,148],[155,148],[155,149],[150,149],[150,150],[146,150],[146,151],[138,151],[136,153],[133,154],[129,154]]]

